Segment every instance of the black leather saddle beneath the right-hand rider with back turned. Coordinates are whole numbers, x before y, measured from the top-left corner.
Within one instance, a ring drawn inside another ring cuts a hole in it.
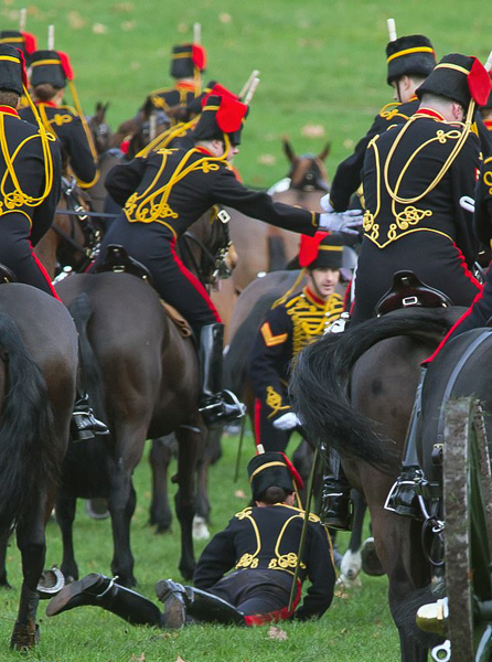
[[[393,276],[392,287],[376,303],[374,316],[381,317],[392,310],[414,306],[448,308],[452,301],[443,292],[419,280],[414,271],[397,271]]]

